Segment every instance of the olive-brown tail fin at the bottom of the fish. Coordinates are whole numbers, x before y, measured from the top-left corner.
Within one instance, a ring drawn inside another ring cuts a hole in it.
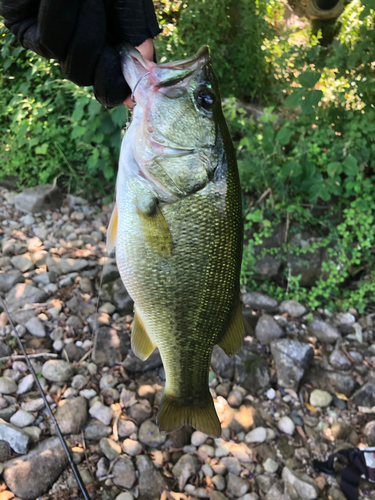
[[[166,432],[189,424],[212,437],[221,436],[221,425],[210,394],[204,407],[181,406],[175,398],[164,394],[158,413],[158,424],[160,430]]]

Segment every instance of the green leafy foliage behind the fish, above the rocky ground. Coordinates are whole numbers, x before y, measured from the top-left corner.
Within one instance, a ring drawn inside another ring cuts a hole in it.
[[[211,48],[244,191],[244,287],[312,308],[375,310],[374,3],[348,3],[328,45],[309,22],[288,20],[281,0],[156,4],[161,62]],[[112,193],[125,107],[106,110],[56,62],[0,33],[0,177]],[[306,286],[291,262],[308,266],[317,253]],[[264,280],[267,255],[281,267]]]

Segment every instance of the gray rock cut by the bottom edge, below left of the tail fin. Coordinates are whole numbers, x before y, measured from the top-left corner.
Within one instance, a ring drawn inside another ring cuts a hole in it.
[[[159,500],[161,493],[167,488],[163,476],[154,467],[146,455],[136,458],[138,469],[138,488],[140,500]]]

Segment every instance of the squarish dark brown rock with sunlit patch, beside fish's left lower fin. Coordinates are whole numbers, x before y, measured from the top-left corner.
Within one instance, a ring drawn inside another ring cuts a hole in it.
[[[130,338],[127,332],[103,326],[96,333],[94,359],[99,365],[112,366],[124,359],[129,348]]]

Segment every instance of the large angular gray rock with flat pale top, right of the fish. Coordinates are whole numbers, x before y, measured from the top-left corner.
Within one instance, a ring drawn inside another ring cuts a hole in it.
[[[298,340],[281,339],[272,342],[271,352],[278,384],[297,390],[306,368],[314,358],[312,347]]]

